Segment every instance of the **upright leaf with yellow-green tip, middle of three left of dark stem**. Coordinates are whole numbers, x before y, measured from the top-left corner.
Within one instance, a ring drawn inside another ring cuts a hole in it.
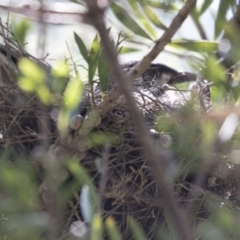
[[[97,69],[99,51],[100,51],[100,44],[98,41],[98,36],[96,35],[96,37],[92,42],[92,46],[89,53],[89,62],[88,62],[88,83],[89,84],[92,84],[92,80]]]

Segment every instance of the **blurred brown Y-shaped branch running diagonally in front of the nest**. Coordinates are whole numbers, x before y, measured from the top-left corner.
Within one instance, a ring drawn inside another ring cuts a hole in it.
[[[184,7],[180,10],[178,15],[174,18],[171,23],[169,29],[163,34],[163,36],[156,42],[153,49],[147,54],[142,61],[137,64],[137,66],[127,75],[125,76],[119,63],[117,60],[117,53],[115,51],[114,45],[111,42],[106,26],[104,24],[103,19],[103,8],[100,8],[97,5],[97,1],[86,1],[88,4],[89,11],[87,13],[87,17],[91,20],[92,25],[98,30],[102,44],[105,49],[105,53],[107,55],[107,59],[112,66],[113,71],[116,74],[116,80],[119,83],[119,88],[121,92],[125,95],[125,98],[129,105],[129,110],[133,115],[136,128],[139,132],[140,139],[142,141],[144,150],[148,159],[153,167],[153,173],[155,179],[157,180],[161,191],[163,193],[165,209],[168,214],[170,214],[172,218],[172,222],[174,223],[175,229],[178,232],[181,239],[190,240],[191,237],[189,235],[189,231],[187,229],[187,224],[183,221],[183,217],[177,209],[176,203],[173,198],[173,192],[171,191],[171,185],[166,180],[165,173],[168,169],[168,157],[164,154],[156,153],[153,147],[153,141],[148,132],[146,124],[143,120],[141,113],[139,112],[137,105],[132,97],[131,91],[129,90],[130,79],[135,79],[140,76],[144,70],[150,65],[153,59],[163,50],[166,44],[170,41],[172,36],[181,26],[183,21],[186,19],[188,14],[190,14],[191,10],[194,8],[196,1],[188,0]]]

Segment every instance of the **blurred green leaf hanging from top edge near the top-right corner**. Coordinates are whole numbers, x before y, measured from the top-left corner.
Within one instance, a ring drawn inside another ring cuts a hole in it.
[[[215,33],[214,38],[218,38],[221,32],[224,30],[225,23],[227,21],[227,11],[231,5],[235,3],[235,0],[220,0],[218,6],[217,17],[215,21]]]

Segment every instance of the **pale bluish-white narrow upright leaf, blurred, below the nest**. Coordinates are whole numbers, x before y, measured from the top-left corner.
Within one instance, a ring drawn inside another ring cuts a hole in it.
[[[84,222],[90,224],[93,218],[92,200],[90,197],[89,187],[87,185],[82,186],[80,195],[80,208]]]

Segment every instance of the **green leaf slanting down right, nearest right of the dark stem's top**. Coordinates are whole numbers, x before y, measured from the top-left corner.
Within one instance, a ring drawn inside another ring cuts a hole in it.
[[[112,3],[111,9],[119,21],[129,28],[132,32],[144,38],[152,40],[149,35],[129,16],[128,12],[119,5]]]

